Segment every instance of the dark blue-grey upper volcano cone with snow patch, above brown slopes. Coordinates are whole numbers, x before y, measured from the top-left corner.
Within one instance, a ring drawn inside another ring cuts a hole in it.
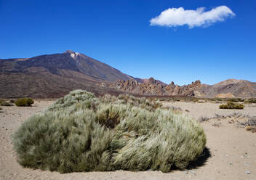
[[[71,50],[62,54],[41,55],[27,60],[1,60],[0,63],[0,73],[31,73],[39,70],[54,75],[80,76],[81,78],[87,75],[99,81],[131,78],[103,62]]]

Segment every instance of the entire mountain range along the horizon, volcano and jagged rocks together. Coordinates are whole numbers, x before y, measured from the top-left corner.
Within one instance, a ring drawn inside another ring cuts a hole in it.
[[[256,83],[228,79],[212,86],[195,81],[179,86],[154,78],[134,78],[68,50],[31,58],[0,60],[0,98],[54,98],[73,89],[95,94],[137,94],[195,97],[256,97]]]

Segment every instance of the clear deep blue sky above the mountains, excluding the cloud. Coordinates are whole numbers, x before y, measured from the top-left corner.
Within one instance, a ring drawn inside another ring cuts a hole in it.
[[[169,8],[207,12],[223,5],[235,16],[211,25],[150,22]],[[255,82],[255,20],[255,0],[0,0],[0,59],[72,49],[123,73],[165,83]]]

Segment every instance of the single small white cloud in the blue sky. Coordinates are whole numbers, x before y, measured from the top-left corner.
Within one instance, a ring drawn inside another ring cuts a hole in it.
[[[196,26],[208,26],[218,21],[224,21],[227,17],[235,16],[235,13],[226,6],[216,7],[205,12],[204,7],[196,10],[185,10],[183,7],[169,8],[161,12],[157,17],[151,19],[151,25],[175,27],[188,25],[189,28]]]

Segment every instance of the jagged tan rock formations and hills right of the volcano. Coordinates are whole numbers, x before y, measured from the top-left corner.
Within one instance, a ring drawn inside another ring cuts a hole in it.
[[[160,81],[161,82],[161,81]],[[159,83],[154,78],[149,78],[144,83],[138,83],[135,79],[116,81],[110,85],[121,91],[132,92],[140,95],[165,95],[186,97],[256,97],[256,83],[228,79],[212,86],[202,84],[197,80],[191,84],[179,86],[172,81],[169,85]]]

